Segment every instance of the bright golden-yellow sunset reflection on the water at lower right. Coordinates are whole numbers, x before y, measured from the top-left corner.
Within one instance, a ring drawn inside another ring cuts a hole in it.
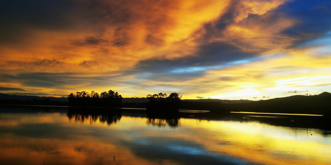
[[[185,119],[184,119],[185,120]],[[186,121],[188,125],[197,121]],[[181,121],[182,127],[185,121]],[[257,122],[198,121],[199,135],[186,136],[204,143],[208,150],[244,157],[252,162],[265,164],[330,164],[331,140],[321,143],[315,131],[291,130]],[[206,128],[206,131],[201,131]],[[208,135],[208,133],[213,134]],[[314,134],[311,136],[310,134]],[[198,139],[197,139],[198,138]],[[208,139],[208,140],[203,140]],[[219,145],[217,145],[217,143]]]

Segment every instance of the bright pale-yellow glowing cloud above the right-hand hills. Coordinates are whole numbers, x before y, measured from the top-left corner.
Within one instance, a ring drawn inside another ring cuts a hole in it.
[[[204,97],[237,99],[266,93],[274,98],[287,96],[287,91],[300,88],[317,93],[319,86],[331,86],[331,54],[311,55],[311,49],[315,48],[290,49],[282,56],[209,70],[197,79],[175,83],[192,86],[183,93],[188,98],[194,98],[195,93]]]

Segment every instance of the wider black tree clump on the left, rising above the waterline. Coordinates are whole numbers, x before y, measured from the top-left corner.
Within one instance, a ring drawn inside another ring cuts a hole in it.
[[[68,95],[68,105],[73,107],[108,107],[121,108],[122,96],[113,90],[102,92],[100,95],[92,91],[71,93]]]

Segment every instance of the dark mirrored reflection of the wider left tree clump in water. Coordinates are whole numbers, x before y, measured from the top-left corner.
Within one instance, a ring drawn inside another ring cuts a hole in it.
[[[120,110],[109,110],[109,109],[69,109],[67,116],[69,121],[74,120],[75,122],[90,122],[95,123],[99,120],[101,123],[107,123],[111,125],[116,124],[122,117]]]

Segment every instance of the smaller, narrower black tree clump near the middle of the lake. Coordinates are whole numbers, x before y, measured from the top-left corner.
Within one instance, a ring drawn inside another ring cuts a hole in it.
[[[182,96],[179,93],[166,93],[147,95],[147,110],[171,110],[178,111]]]

